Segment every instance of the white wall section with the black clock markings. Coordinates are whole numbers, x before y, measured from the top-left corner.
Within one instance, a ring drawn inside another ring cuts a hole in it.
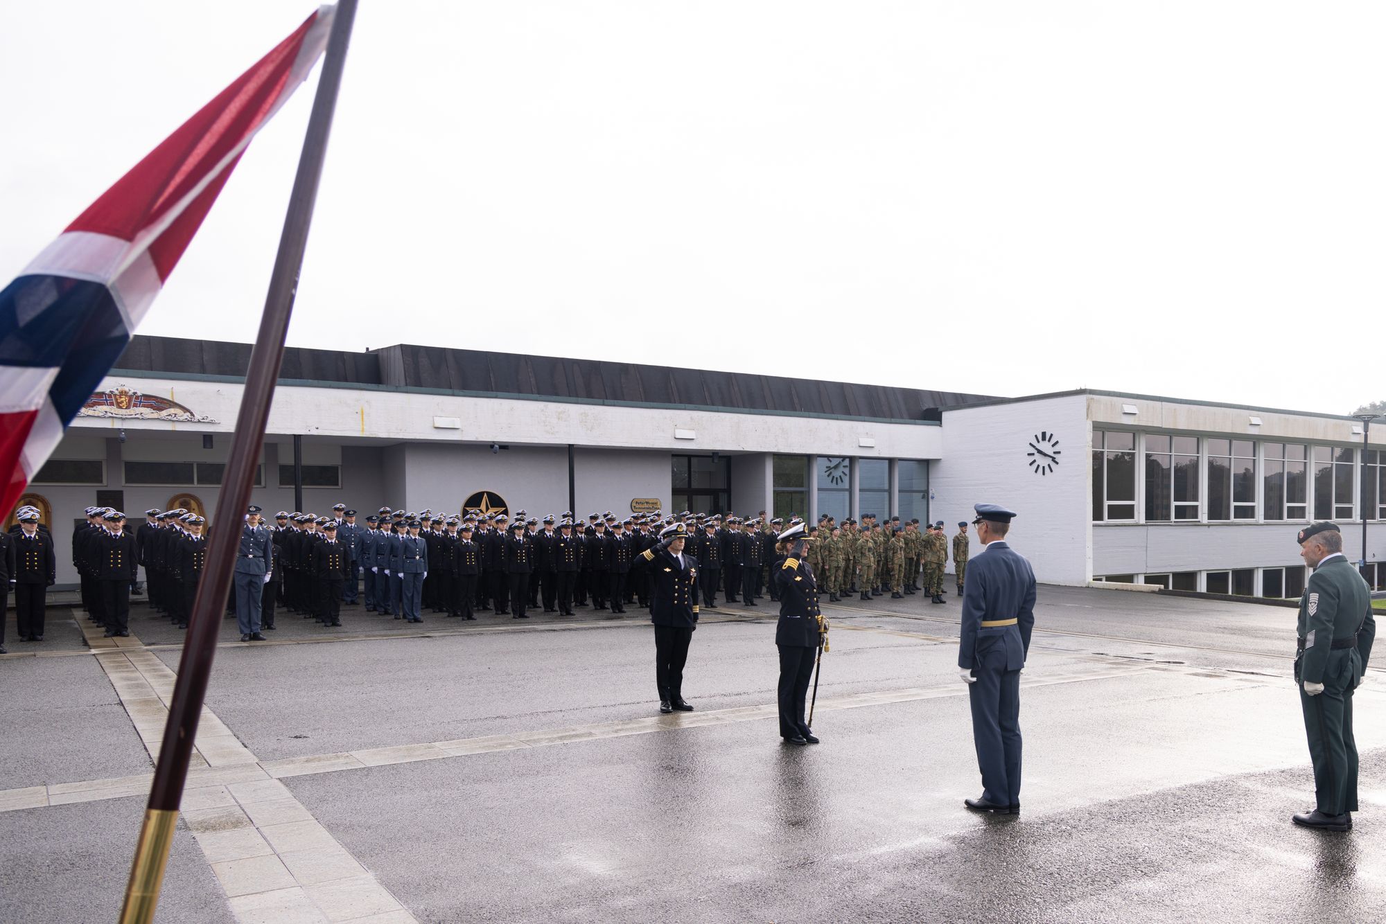
[[[945,411],[942,423],[942,457],[929,471],[930,517],[956,524],[972,521],[977,503],[1009,507],[1017,514],[1009,540],[1035,576],[1085,583],[1092,528],[1085,396],[958,409]],[[1059,467],[1042,477],[1030,471],[1026,454],[1041,431],[1058,436],[1062,453]]]

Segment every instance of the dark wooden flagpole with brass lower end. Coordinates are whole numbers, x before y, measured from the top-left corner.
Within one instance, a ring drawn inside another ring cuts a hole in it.
[[[216,636],[231,585],[233,561],[240,546],[240,525],[249,503],[255,470],[265,443],[269,407],[274,398],[274,382],[284,357],[288,319],[294,310],[298,273],[304,263],[308,229],[313,220],[313,202],[317,198],[327,136],[331,133],[333,111],[337,107],[337,91],[341,87],[342,66],[355,18],[356,0],[338,0],[327,37],[327,51],[323,55],[323,72],[317,80],[317,94],[313,97],[313,111],[308,121],[308,133],[304,137],[304,151],[298,159],[294,191],[290,195],[288,213],[284,216],[284,230],[279,238],[274,272],[270,274],[269,292],[265,296],[265,313],[261,316],[259,334],[245,373],[245,391],[212,521],[216,528],[212,529],[207,546],[207,565],[193,601],[177,683],[173,686],[173,700],[169,704],[168,725],[164,726],[164,741],[154,766],[154,783],[150,785],[144,824],[134,849],[130,881],[125,889],[121,924],[150,924],[159,900],[164,869],[168,864],[179,803],[183,799],[183,784],[187,780],[187,765],[197,737],[197,720],[207,698],[207,683],[216,655]]]

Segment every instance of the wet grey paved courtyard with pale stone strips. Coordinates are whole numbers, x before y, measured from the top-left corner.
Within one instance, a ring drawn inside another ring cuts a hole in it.
[[[227,621],[159,920],[1379,913],[1386,672],[1358,693],[1356,830],[1306,831],[1293,610],[1041,587],[1024,815],[977,817],[948,601],[829,608],[811,748],[779,743],[769,601],[704,611],[697,709],[671,716],[633,611],[345,608],[341,629],[281,614],[249,644]],[[118,914],[182,633],[140,605],[133,637],[98,636],[53,607],[44,643],[0,657],[0,920]]]

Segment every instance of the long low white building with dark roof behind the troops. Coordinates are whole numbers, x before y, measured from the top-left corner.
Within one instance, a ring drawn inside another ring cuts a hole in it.
[[[211,514],[244,344],[136,337],[21,503],[58,543],[89,504]],[[1293,597],[1296,524],[1335,519],[1386,585],[1386,427],[1080,391],[994,399],[391,346],[290,349],[255,501],[531,514],[760,510],[972,519],[1010,506],[1041,580]],[[294,449],[302,500],[295,500]],[[60,554],[60,583],[76,579]]]

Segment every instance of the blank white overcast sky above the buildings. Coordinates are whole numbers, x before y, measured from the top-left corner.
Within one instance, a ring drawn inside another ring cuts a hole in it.
[[[0,276],[312,8],[10,4]],[[363,0],[290,344],[1349,413],[1386,398],[1383,26],[1379,1]],[[140,332],[254,339],[315,86]]]

